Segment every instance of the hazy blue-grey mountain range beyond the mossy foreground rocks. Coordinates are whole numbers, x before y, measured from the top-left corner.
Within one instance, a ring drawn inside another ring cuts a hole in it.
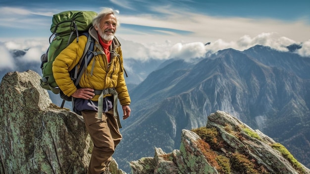
[[[154,147],[177,149],[182,129],[204,126],[217,110],[279,141],[310,166],[310,58],[255,46],[160,67],[130,90],[132,116],[122,123],[114,155],[122,169],[152,156]]]

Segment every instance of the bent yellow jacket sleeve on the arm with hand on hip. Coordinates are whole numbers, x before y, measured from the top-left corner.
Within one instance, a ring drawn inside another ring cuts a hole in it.
[[[63,49],[53,61],[53,76],[61,91],[67,96],[71,96],[77,90],[70,77],[69,71],[79,63],[86,42],[87,37],[80,36],[79,42],[75,39],[70,45],[68,45],[68,47]]]

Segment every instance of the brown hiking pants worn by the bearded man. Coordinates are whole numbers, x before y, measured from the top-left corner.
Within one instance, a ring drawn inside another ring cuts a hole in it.
[[[100,174],[108,168],[112,154],[122,139],[119,132],[117,118],[113,116],[113,109],[103,113],[102,120],[97,118],[97,111],[82,111],[85,126],[94,143],[88,174]]]

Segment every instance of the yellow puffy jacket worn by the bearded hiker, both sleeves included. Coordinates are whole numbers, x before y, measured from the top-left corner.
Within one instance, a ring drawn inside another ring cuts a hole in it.
[[[110,63],[99,44],[98,34],[94,27],[89,29],[89,34],[95,39],[95,51],[103,54],[95,56],[87,66],[79,82],[81,88],[92,88],[94,90],[103,90],[106,88],[115,88],[118,93],[118,99],[121,105],[130,105],[130,97],[123,74],[123,56],[119,41],[114,37],[110,46]],[[54,60],[52,71],[55,81],[63,93],[71,96],[76,90],[76,86],[70,78],[69,71],[79,63],[83,55],[87,42],[86,36],[79,36],[68,45]],[[93,101],[98,101],[99,95],[96,95]]]

